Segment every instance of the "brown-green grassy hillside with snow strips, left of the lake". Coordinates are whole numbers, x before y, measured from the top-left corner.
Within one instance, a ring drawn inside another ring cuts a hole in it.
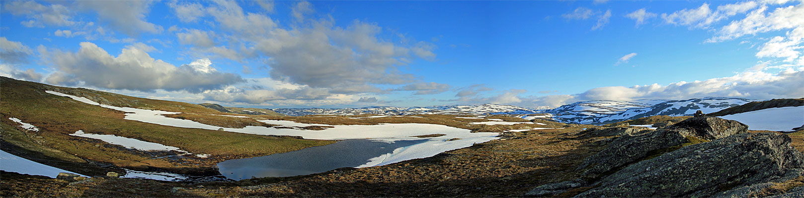
[[[184,170],[191,170],[192,168],[211,168],[221,160],[291,152],[305,147],[334,142],[142,123],[123,119],[125,115],[122,111],[47,94],[45,92],[47,90],[79,95],[93,99],[98,103],[122,107],[195,114],[220,114],[219,111],[191,103],[140,99],[102,91],[55,87],[2,77],[0,79],[0,98],[2,98],[0,99],[0,117],[2,117],[0,120],[2,121],[0,122],[3,123],[2,143],[16,146],[14,147],[18,148],[16,150],[19,150],[19,148],[26,150],[21,153],[41,152],[43,156],[55,156],[52,159],[60,161],[80,163],[80,160],[70,157],[77,156],[84,160],[113,164],[122,168],[141,170],[149,168],[178,170],[179,168],[185,168]],[[15,127],[19,124],[11,121],[9,119],[11,117],[21,119],[24,123],[31,123],[39,127],[39,131],[25,131],[21,127]],[[105,143],[97,139],[68,135],[78,130],[93,134],[119,135],[153,143],[162,143],[179,147],[187,152],[212,156],[207,159],[194,157],[154,159],[158,156],[169,156],[175,153],[142,152]],[[20,131],[23,131],[23,134],[20,134]],[[4,150],[15,150],[6,145],[2,148]],[[39,159],[32,156],[35,155],[23,155],[23,157]]]

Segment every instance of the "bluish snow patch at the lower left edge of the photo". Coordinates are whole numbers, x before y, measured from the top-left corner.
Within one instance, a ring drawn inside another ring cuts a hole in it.
[[[51,178],[55,178],[55,176],[58,176],[59,172],[68,172],[60,168],[51,167],[45,164],[39,164],[38,162],[35,161],[14,156],[4,151],[0,151],[0,170],[6,172],[18,172],[33,176],[49,176]],[[75,173],[75,172],[69,172],[69,173]]]

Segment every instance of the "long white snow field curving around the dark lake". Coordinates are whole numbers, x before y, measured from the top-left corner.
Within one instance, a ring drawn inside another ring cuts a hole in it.
[[[428,139],[425,143],[418,143],[408,147],[401,147],[392,153],[383,156],[378,156],[372,159],[370,163],[363,164],[360,167],[377,166],[384,164],[392,164],[404,160],[412,160],[416,158],[424,158],[435,156],[438,153],[446,152],[461,147],[469,147],[474,143],[484,143],[496,137],[498,133],[492,132],[478,132],[472,133],[470,130],[448,127],[438,124],[429,123],[382,123],[377,125],[326,125],[326,124],[309,124],[309,123],[296,123],[287,120],[259,120],[260,122],[277,124],[286,127],[308,127],[308,126],[331,126],[324,130],[303,130],[300,128],[276,128],[276,127],[261,127],[261,126],[246,126],[243,128],[229,128],[229,127],[216,127],[203,123],[197,123],[187,119],[174,119],[168,118],[163,115],[178,114],[178,112],[170,111],[154,111],[137,109],[130,107],[113,107],[92,102],[83,97],[74,95],[66,95],[55,91],[46,91],[53,95],[67,96],[76,99],[80,102],[98,105],[119,111],[127,112],[125,119],[136,120],[145,123],[156,123],[165,126],[173,127],[190,127],[190,128],[203,128],[210,130],[217,130],[223,128],[225,131],[256,134],[256,135],[296,135],[305,139],[377,139],[380,141],[396,141],[405,139]],[[498,121],[503,121],[499,119]],[[487,122],[486,122],[487,123]],[[515,124],[511,122],[498,122],[503,124]],[[416,135],[431,135],[431,134],[445,134],[433,138],[417,138]],[[448,139],[457,139],[447,141]]]

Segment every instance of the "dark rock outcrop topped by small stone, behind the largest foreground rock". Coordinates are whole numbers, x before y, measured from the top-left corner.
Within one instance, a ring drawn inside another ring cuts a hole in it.
[[[651,152],[689,143],[691,139],[711,141],[746,130],[748,126],[734,120],[714,117],[691,118],[658,131],[618,137],[609,143],[609,147],[584,160],[578,170],[587,169],[582,176],[597,178],[605,172],[645,159]]]

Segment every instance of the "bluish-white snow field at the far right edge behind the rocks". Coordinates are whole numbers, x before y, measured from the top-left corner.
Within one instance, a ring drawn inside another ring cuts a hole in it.
[[[750,130],[793,131],[804,125],[804,106],[768,108],[759,111],[720,116],[749,125]]]

